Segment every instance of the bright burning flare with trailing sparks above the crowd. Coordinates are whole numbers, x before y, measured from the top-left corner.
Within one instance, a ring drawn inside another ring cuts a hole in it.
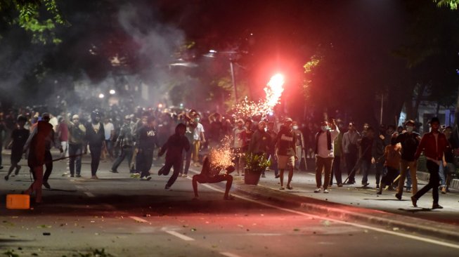
[[[279,103],[280,96],[284,91],[285,80],[282,74],[276,74],[269,80],[264,88],[266,98],[259,100],[258,103],[250,101],[247,96],[240,103],[233,106],[235,119],[244,119],[256,115],[266,116],[269,112],[273,112],[274,106]]]

